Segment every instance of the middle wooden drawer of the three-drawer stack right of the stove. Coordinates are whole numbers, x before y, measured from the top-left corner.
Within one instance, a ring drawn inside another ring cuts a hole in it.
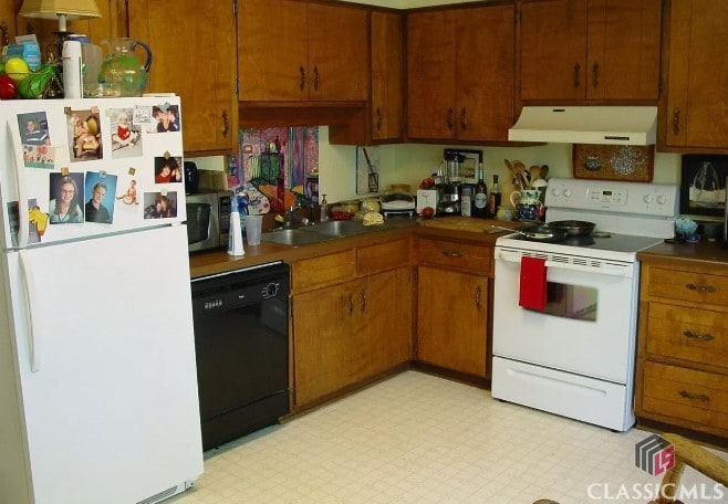
[[[651,303],[647,351],[728,370],[728,314]]]

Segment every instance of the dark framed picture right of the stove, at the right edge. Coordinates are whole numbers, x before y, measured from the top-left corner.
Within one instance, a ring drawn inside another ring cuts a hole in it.
[[[680,213],[722,217],[728,156],[683,155]]]

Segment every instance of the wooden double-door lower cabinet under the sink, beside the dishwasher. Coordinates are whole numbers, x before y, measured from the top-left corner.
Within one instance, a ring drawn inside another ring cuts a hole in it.
[[[294,409],[412,358],[408,238],[293,264]]]

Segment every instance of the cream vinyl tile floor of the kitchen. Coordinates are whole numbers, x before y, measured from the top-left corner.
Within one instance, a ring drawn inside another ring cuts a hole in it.
[[[406,371],[205,454],[170,504],[647,503],[661,477],[635,466],[651,432],[615,433]],[[728,453],[718,452],[728,459]],[[687,468],[683,501],[728,503]]]

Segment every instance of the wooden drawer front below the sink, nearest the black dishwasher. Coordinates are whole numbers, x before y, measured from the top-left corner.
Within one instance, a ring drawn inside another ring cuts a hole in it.
[[[291,266],[293,291],[316,287],[354,277],[354,250],[297,261]]]

